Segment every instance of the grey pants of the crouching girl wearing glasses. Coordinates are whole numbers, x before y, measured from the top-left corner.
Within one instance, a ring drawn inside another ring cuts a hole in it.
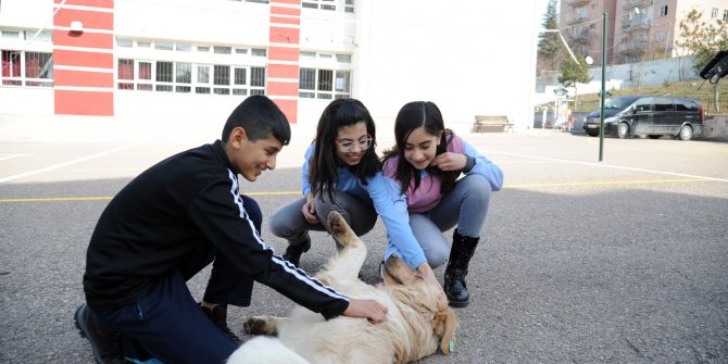
[[[362,201],[347,192],[334,191],[331,202],[328,193],[324,193],[322,201],[316,197],[316,215],[321,223],[311,224],[303,217],[305,198],[300,198],[273,212],[271,215],[271,231],[273,235],[288,240],[290,244],[299,244],[309,239],[309,230],[328,231],[326,219],[331,211],[341,214],[356,236],[363,236],[374,228],[377,222],[377,212],[371,202]]]

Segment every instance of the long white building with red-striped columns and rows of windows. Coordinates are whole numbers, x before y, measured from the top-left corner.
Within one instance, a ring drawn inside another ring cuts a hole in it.
[[[2,0],[0,114],[219,123],[266,95],[296,124],[351,97],[379,120],[430,100],[453,127],[526,125],[539,16],[479,0]]]

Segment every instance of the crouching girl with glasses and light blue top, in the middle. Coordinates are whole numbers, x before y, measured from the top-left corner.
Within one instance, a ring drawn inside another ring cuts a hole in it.
[[[355,99],[332,101],[323,112],[316,138],[305,152],[301,185],[303,197],[271,216],[271,230],[288,240],[284,259],[299,265],[311,248],[309,230],[325,231],[329,212],[336,210],[357,236],[381,219],[398,253],[407,265],[437,280],[410,225],[403,196],[391,193],[375,151],[374,120]]]

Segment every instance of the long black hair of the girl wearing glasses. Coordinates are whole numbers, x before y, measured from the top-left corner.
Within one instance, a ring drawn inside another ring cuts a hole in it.
[[[316,150],[309,166],[309,184],[314,196],[323,199],[322,193],[327,190],[329,199],[334,201],[332,190],[339,176],[338,170],[342,165],[336,154],[335,139],[339,128],[361,122],[366,124],[372,146],[364,152],[359,164],[349,168],[364,185],[366,177],[381,171],[381,161],[376,152],[377,133],[369,111],[356,99],[334,100],[322,113],[316,127]]]

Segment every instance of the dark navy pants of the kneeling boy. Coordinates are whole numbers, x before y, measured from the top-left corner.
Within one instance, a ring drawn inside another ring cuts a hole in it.
[[[255,200],[242,196],[246,211],[260,231],[263,214]],[[214,262],[213,262],[214,261]],[[129,357],[155,357],[172,363],[224,363],[238,348],[200,310],[187,288],[187,280],[213,262],[203,300],[210,303],[247,306],[253,280],[239,272],[211,243],[198,249],[154,289],[135,304],[113,311],[95,311],[97,317],[124,337]]]

